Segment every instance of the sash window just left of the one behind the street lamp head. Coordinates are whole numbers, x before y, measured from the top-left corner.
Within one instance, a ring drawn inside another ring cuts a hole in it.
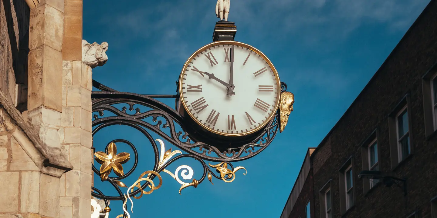
[[[349,159],[340,167],[339,170],[341,215],[344,215],[350,208],[355,205],[354,184],[354,160],[352,157],[349,157]]]

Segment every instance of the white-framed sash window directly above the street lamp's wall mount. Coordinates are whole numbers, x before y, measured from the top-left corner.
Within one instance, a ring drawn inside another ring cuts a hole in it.
[[[396,116],[396,129],[398,138],[398,160],[401,162],[411,152],[409,143],[408,109],[405,106]]]

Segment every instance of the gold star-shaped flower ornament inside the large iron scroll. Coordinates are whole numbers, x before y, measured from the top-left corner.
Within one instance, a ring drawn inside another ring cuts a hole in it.
[[[95,160],[102,164],[100,167],[100,178],[102,181],[108,178],[113,169],[117,176],[123,176],[123,166],[121,164],[125,164],[130,159],[130,154],[127,152],[117,154],[117,146],[113,142],[108,145],[106,153],[97,151],[94,155],[96,156]]]

